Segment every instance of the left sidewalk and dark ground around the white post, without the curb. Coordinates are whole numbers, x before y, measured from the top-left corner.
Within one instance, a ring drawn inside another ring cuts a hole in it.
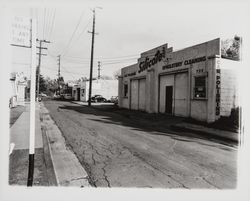
[[[39,104],[36,104],[35,119],[35,186],[47,186],[48,177],[44,163],[43,139],[41,132]],[[10,128],[10,144],[14,148],[9,156],[9,184],[27,185],[29,156],[29,120],[30,104],[25,104],[25,111]]]

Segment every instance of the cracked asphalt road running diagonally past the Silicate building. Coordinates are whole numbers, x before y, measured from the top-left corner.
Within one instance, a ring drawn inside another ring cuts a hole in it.
[[[139,118],[140,113],[132,118],[119,109],[109,111],[63,101],[44,104],[93,186],[237,186],[236,148],[171,131],[168,124],[175,118]]]

